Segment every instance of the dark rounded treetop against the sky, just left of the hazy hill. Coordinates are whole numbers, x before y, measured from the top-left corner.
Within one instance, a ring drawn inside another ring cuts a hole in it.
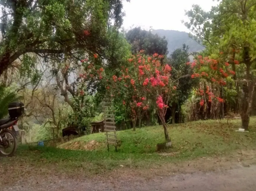
[[[168,54],[167,40],[165,37],[161,38],[158,34],[152,34],[151,31],[142,30],[141,27],[136,27],[127,31],[127,41],[132,45],[132,53],[138,53],[144,50],[145,54],[153,55],[154,53],[160,55]]]

